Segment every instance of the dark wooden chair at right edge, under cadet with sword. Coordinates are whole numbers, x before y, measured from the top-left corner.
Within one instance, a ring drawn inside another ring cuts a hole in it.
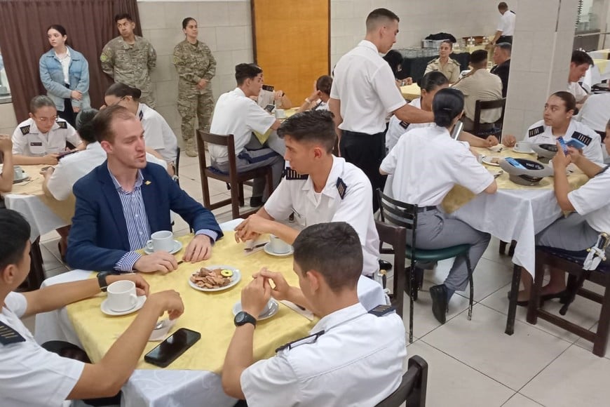
[[[568,298],[563,299],[564,306],[560,309],[560,314],[565,315],[570,303],[576,295],[581,295],[583,298],[598,302],[602,305],[599,312],[599,322],[597,331],[589,331],[588,328],[576,325],[556,314],[551,314],[539,307],[540,293],[544,278],[545,265],[555,269],[565,270],[569,274],[567,291]],[[593,291],[583,288],[585,280],[596,283],[604,287],[604,294],[599,295]],[[596,270],[584,270],[583,261],[579,258],[567,254],[564,251],[558,251],[548,247],[536,248],[536,277],[534,284],[531,287],[529,296],[529,305],[527,307],[527,321],[536,324],[538,317],[553,323],[571,333],[574,333],[581,338],[593,342],[593,354],[603,357],[606,354],[606,345],[608,342],[608,329],[610,326],[610,265],[601,263]]]

